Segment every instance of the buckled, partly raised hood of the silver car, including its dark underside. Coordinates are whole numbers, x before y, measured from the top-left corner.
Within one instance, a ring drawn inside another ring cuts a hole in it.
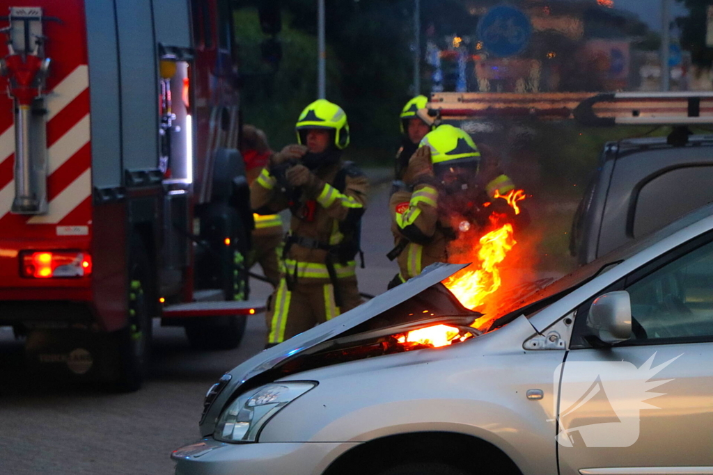
[[[424,269],[424,272],[419,276],[411,278],[406,283],[392,288],[390,291],[372,298],[361,306],[342,313],[342,315],[317,325],[304,333],[300,333],[275,347],[257,353],[257,355],[238,365],[226,374],[223,378],[225,387],[220,390],[219,394],[215,395],[215,400],[212,400],[210,405],[207,406],[207,411],[204,412],[200,422],[201,434],[204,436],[212,434],[215,428],[215,421],[220,415],[222,407],[236,391],[240,391],[242,385],[246,385],[246,383],[250,385],[249,382],[255,380],[257,376],[274,369],[288,360],[293,360],[297,355],[305,353],[310,348],[327,342],[327,340],[333,340],[341,335],[349,334],[350,331],[353,333],[355,329],[374,330],[374,328],[389,328],[399,323],[404,323],[395,321],[394,315],[389,315],[389,310],[407,303],[411,299],[418,299],[417,296],[427,293],[426,291],[429,289],[431,289],[432,293],[430,296],[445,296],[448,294],[447,297],[450,298],[451,309],[446,315],[457,313],[458,315],[471,315],[471,318],[480,315],[461,306],[456,298],[441,284],[441,281],[466,266],[468,264],[432,264]],[[426,299],[426,301],[419,301],[418,305],[424,306],[428,303],[429,299]],[[454,312],[453,308],[457,308],[457,311]],[[424,312],[418,315],[411,313],[414,317],[410,318],[408,322],[417,323],[422,320],[434,320],[434,314],[435,318],[438,318],[437,309],[431,311],[431,309],[426,308],[425,310],[429,310],[429,313]]]

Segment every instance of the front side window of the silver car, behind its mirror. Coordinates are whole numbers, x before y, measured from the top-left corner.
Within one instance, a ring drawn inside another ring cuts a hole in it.
[[[713,242],[667,263],[626,290],[631,296],[634,340],[713,337]]]

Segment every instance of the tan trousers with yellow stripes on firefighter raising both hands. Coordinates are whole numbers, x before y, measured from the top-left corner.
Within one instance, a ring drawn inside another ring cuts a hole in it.
[[[355,277],[337,279],[342,307],[334,301],[334,286],[324,279],[299,279],[287,288],[284,276],[267,306],[267,345],[277,345],[361,304]]]

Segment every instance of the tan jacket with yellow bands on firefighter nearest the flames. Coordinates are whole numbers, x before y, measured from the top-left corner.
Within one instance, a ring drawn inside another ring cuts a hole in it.
[[[496,191],[506,194],[514,189],[511,179],[499,170],[489,170],[488,176],[478,174],[481,175],[478,181],[485,183],[480,194],[484,191],[490,199]],[[391,232],[399,249],[401,282],[418,276],[432,263],[449,262],[448,244],[456,239],[458,230],[451,225],[452,207],[443,204],[448,198],[432,176],[422,179],[412,191],[400,190],[391,195]]]

